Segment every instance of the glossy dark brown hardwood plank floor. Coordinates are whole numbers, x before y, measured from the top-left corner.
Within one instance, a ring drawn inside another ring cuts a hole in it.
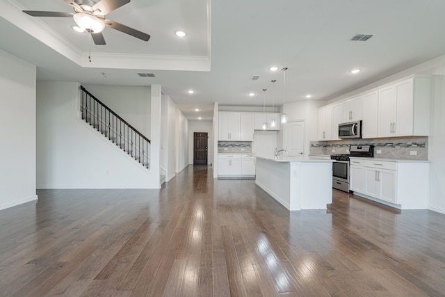
[[[0,296],[445,296],[445,215],[334,190],[289,212],[189,166],[161,190],[42,190],[0,211]]]

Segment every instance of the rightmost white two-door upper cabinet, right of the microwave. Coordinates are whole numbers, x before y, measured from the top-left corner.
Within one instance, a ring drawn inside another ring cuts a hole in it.
[[[429,77],[411,77],[379,89],[378,137],[428,136]]]

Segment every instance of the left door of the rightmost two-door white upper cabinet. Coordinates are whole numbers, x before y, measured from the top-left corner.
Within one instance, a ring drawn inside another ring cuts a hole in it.
[[[378,90],[378,136],[394,136],[396,115],[396,97],[394,87],[387,86]]]

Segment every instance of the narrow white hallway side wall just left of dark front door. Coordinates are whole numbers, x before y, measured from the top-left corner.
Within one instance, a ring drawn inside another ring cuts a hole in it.
[[[176,166],[175,172],[181,172],[188,166],[188,120],[184,113],[176,109]]]

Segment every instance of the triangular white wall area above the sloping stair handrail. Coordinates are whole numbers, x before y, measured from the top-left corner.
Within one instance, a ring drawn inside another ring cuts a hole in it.
[[[151,90],[149,86],[83,85],[112,111],[145,137],[151,138]]]

